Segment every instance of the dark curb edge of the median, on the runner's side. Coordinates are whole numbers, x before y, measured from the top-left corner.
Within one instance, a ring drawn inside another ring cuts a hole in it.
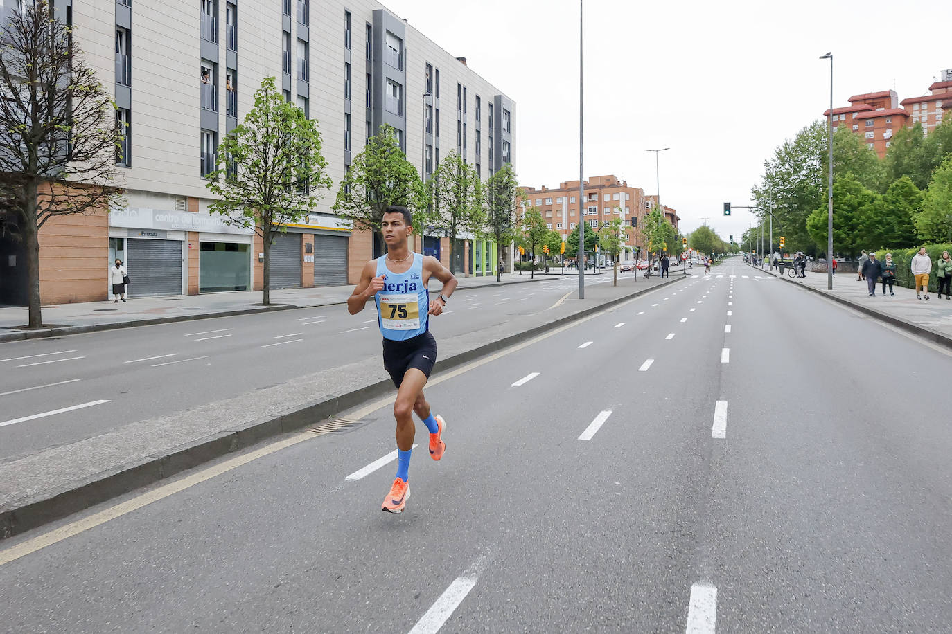
[[[457,368],[475,358],[522,342],[526,336],[537,336],[555,330],[565,324],[603,311],[610,306],[664,288],[668,284],[675,283],[676,280],[662,282],[644,290],[636,290],[624,297],[610,299],[605,303],[586,308],[573,315],[560,317],[531,330],[490,341],[458,355],[438,360],[433,370],[444,372]],[[248,447],[272,436],[299,432],[303,428],[313,426],[335,413],[392,391],[392,381],[389,379],[381,380],[347,394],[340,394],[311,403],[294,412],[284,413],[274,418],[262,418],[241,430],[214,433],[198,438],[186,445],[169,449],[169,451],[150,455],[107,471],[101,471],[75,483],[68,490],[48,491],[32,498],[4,504],[0,506],[0,540],[107,502],[131,490],[155,484],[176,473],[198,467],[233,451],[248,449]]]

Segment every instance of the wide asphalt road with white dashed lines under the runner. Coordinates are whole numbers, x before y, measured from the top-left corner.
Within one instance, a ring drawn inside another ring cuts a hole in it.
[[[731,260],[434,375],[446,455],[418,434],[402,514],[380,511],[393,423],[372,403],[344,432],[4,543],[0,623],[948,632],[950,371]]]

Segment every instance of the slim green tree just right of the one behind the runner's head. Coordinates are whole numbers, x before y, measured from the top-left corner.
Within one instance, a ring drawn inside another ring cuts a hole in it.
[[[483,182],[476,169],[455,151],[437,165],[429,182],[432,209],[426,224],[449,238],[449,261],[454,261],[456,237],[480,233],[486,226]]]

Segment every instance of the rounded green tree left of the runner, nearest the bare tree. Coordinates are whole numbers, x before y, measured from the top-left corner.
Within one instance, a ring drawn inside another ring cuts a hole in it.
[[[208,191],[219,197],[211,211],[262,238],[263,301],[268,305],[274,237],[289,222],[304,220],[319,192],[330,186],[317,122],[289,104],[274,78],[266,77],[254,93],[254,107],[222,141],[218,169],[208,178]]]

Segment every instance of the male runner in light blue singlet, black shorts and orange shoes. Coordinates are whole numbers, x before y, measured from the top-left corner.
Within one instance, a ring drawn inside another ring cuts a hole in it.
[[[384,369],[397,386],[397,400],[393,404],[393,417],[397,419],[397,477],[384,498],[383,509],[399,513],[410,496],[407,481],[416,433],[414,412],[429,430],[430,456],[439,460],[446,451],[446,421],[430,413],[423,388],[436,363],[436,340],[429,333],[429,316],[443,313],[446,300],[456,288],[456,278],[440,260],[411,253],[407,248],[407,239],[413,233],[407,207],[387,207],[382,230],[387,255],[364,265],[353,295],[347,298],[347,310],[351,315],[360,313],[370,298],[375,298],[377,304],[377,325],[384,335]],[[442,295],[432,301],[426,290],[430,276],[443,282]]]

